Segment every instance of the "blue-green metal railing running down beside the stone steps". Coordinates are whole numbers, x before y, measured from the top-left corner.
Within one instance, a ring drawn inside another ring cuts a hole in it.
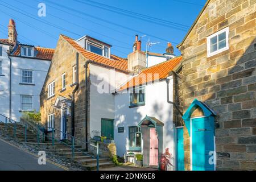
[[[1,118],[0,118],[0,123],[3,123],[4,127],[5,127],[5,134],[7,134],[7,129],[13,129],[13,136],[9,136],[9,137],[14,137],[16,139],[16,134],[19,133],[19,134],[22,134],[24,135],[24,142],[27,142],[27,123],[18,123],[16,121],[14,121],[13,119],[10,119],[8,117],[6,117],[5,115],[2,115],[0,114]],[[13,126],[11,126],[11,124],[13,124]],[[24,131],[20,131],[20,130],[17,130],[17,125],[20,125],[20,126],[23,126],[24,127]],[[2,131],[2,130],[0,130]],[[63,136],[65,136],[64,139],[58,139],[55,137],[55,131],[59,131],[59,133]],[[47,133],[49,132],[52,132],[52,135],[51,136],[48,136]],[[37,127],[37,134],[36,134],[36,140],[37,140],[37,143],[40,144],[40,142],[45,142],[45,139],[46,138],[51,138],[51,141],[52,141],[52,146],[55,146],[55,142],[59,142],[61,144],[64,144],[65,146],[68,146],[69,148],[72,149],[72,158],[74,159],[75,158],[75,151],[78,151],[78,152],[81,152],[82,154],[86,155],[86,156],[90,156],[91,158],[93,159],[96,159],[96,168],[97,168],[97,171],[99,170],[100,168],[100,147],[99,147],[99,144],[97,143],[96,145],[94,144],[91,144],[89,142],[86,142],[80,138],[76,138],[68,133],[64,133],[63,131],[60,131],[58,129],[55,129],[53,127],[43,127],[43,126],[40,126],[38,124],[38,127]],[[92,147],[95,147],[96,148],[96,156],[92,156],[82,150],[80,150],[79,148],[76,148],[75,145],[76,144],[90,144],[90,146]]]

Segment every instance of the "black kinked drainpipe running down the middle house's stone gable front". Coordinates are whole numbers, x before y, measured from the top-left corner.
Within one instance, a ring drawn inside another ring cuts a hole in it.
[[[76,53],[76,88],[72,92],[71,96],[71,127],[72,136],[75,137],[75,93],[79,88],[79,53]]]

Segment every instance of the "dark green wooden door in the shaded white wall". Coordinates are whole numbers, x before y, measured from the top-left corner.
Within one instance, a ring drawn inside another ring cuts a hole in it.
[[[114,139],[114,120],[101,119],[101,135],[108,139]]]

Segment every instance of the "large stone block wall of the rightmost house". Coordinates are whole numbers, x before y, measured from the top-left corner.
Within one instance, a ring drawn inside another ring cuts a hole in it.
[[[207,36],[229,27],[229,49],[207,57]],[[256,169],[256,1],[211,0],[179,47],[183,111],[205,102],[217,113],[217,170]],[[190,169],[184,127],[185,169]]]

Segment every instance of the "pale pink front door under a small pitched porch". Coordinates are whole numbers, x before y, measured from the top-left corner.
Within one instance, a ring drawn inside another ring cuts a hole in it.
[[[155,128],[150,128],[150,165],[158,166],[158,135]]]

